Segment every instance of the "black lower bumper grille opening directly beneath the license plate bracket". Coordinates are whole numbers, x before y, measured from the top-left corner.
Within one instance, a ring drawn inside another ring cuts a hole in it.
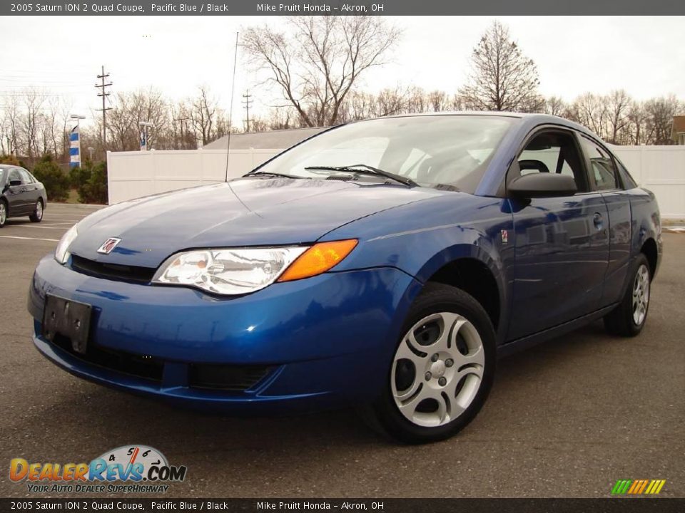
[[[108,368],[111,371],[134,375],[138,378],[153,381],[162,380],[164,363],[153,356],[115,351],[113,349],[96,346],[94,343],[88,343],[85,354],[76,353],[71,347],[71,339],[59,333],[55,335],[54,341],[51,343],[81,361]]]

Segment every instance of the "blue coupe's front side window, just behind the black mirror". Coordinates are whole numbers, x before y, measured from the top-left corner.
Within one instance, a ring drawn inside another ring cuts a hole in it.
[[[587,191],[582,160],[571,133],[557,130],[537,133],[527,143],[517,162],[521,176],[541,172],[569,175],[576,182],[578,192]]]

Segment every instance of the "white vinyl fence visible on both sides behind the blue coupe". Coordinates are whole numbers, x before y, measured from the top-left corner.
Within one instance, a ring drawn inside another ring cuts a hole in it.
[[[614,146],[639,185],[654,191],[664,219],[685,219],[685,146]],[[230,150],[228,177],[238,177],[282,150]],[[107,152],[109,204],[223,182],[225,150]]]

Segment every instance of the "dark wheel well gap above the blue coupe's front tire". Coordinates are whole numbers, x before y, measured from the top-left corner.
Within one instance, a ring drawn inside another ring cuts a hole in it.
[[[476,259],[459,259],[442,266],[428,281],[451,285],[474,297],[497,329],[499,323],[499,289],[492,272]]]

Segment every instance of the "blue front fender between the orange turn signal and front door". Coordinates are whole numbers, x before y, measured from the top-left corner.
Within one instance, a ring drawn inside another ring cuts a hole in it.
[[[334,271],[391,266],[415,278],[421,286],[405,294],[399,311],[402,319],[423,284],[443,266],[459,259],[480,261],[497,284],[501,320],[497,334],[502,340],[509,312],[507,269],[514,263],[509,232],[513,234],[513,221],[506,199],[450,193],[360,219],[322,240],[359,240]]]

